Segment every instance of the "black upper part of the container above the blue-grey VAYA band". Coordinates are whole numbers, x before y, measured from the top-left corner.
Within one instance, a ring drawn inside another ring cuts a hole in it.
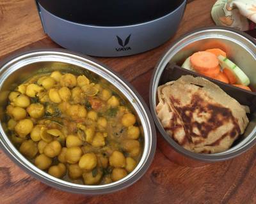
[[[80,24],[122,26],[163,17],[185,0],[37,0],[52,14]]]

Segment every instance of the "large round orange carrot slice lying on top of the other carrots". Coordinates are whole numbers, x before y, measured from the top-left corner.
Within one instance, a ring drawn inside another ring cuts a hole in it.
[[[190,57],[190,62],[193,68],[197,71],[209,71],[219,65],[218,58],[211,52],[195,52]]]

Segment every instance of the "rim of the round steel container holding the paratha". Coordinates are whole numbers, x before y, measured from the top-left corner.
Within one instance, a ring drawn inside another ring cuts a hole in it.
[[[216,30],[219,29],[221,31],[229,31],[235,34],[238,34],[239,36],[242,36],[243,38],[246,38],[246,40],[249,40],[251,43],[253,43],[256,46],[256,40],[254,40],[252,38],[252,36],[250,36],[249,34],[246,34],[242,31],[238,31],[237,29],[233,29],[230,27],[225,27],[225,26],[211,26],[211,27],[201,27],[199,29],[195,29],[193,31],[190,31],[189,33],[183,34],[182,36],[180,36],[179,38],[177,38],[177,40],[173,41],[173,43],[166,48],[166,51],[164,51],[163,55],[161,55],[161,57],[159,58],[159,61],[157,62],[154,71],[152,73],[152,77],[150,79],[150,90],[149,90],[149,96],[153,96],[153,90],[154,90],[154,78],[157,74],[158,69],[161,66],[161,63],[164,59],[164,57],[166,56],[166,54],[169,52],[169,50],[171,50],[177,43],[179,43],[180,41],[184,40],[184,38],[191,36],[192,34],[196,34],[202,31],[211,31],[211,30]],[[195,42],[195,41],[193,41]],[[188,44],[189,45],[189,44]],[[256,138],[254,138],[251,142],[246,143],[246,145],[244,145],[244,147],[238,149],[236,152],[227,152],[227,154],[225,155],[214,155],[214,154],[199,154],[199,153],[195,153],[195,152],[191,152],[189,150],[184,149],[183,147],[181,147],[178,143],[176,143],[164,130],[163,126],[161,125],[161,122],[159,121],[159,119],[157,118],[156,115],[156,110],[154,107],[154,99],[153,97],[150,97],[149,99],[149,104],[150,104],[150,112],[152,114],[152,117],[154,119],[154,122],[157,126],[157,129],[160,131],[161,136],[163,136],[164,140],[171,146],[173,147],[173,149],[175,149],[177,152],[179,152],[179,154],[182,154],[183,156],[189,157],[190,159],[195,159],[195,161],[200,161],[200,162],[205,162],[205,163],[212,163],[212,162],[218,162],[218,161],[225,161],[228,159],[232,159],[234,157],[239,156],[240,154],[243,154],[243,152],[246,152],[248,149],[250,149],[251,147],[253,147],[256,143]],[[254,133],[252,135],[256,136],[256,133]]]

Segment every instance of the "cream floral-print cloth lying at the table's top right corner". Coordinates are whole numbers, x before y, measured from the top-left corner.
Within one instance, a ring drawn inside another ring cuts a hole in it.
[[[212,7],[211,15],[216,25],[248,31],[254,26],[250,20],[256,23],[256,0],[218,0]]]

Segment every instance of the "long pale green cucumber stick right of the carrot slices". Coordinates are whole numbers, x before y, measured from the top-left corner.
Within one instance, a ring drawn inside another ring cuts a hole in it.
[[[232,71],[234,76],[236,76],[237,84],[245,86],[250,84],[250,79],[234,62],[230,61],[229,59],[227,59],[227,57],[224,57],[223,55],[219,55],[218,59],[220,61],[221,68],[229,69],[230,71]]]

